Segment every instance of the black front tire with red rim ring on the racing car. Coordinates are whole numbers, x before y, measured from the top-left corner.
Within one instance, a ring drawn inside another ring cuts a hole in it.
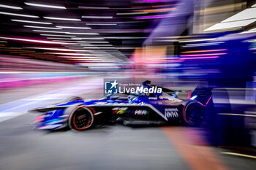
[[[76,131],[84,131],[94,123],[94,114],[88,107],[79,105],[72,109],[68,123],[69,128]]]

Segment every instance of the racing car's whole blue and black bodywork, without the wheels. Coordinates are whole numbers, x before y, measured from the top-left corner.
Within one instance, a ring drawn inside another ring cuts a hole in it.
[[[123,96],[122,96],[123,95]],[[181,100],[177,93],[129,93],[105,96],[98,100],[86,100],[76,98],[75,101],[67,101],[50,107],[39,107],[34,111],[43,114],[34,121],[36,129],[57,129],[69,125],[70,110],[72,108],[83,106],[93,112],[95,120],[116,121],[118,117],[133,117],[145,121],[161,121],[165,123],[173,120],[181,121],[184,118],[184,107],[188,103],[201,104],[196,101],[196,95],[192,99]],[[191,112],[191,111],[189,111]],[[107,118],[106,118],[107,117]],[[97,122],[97,121],[96,121]]]

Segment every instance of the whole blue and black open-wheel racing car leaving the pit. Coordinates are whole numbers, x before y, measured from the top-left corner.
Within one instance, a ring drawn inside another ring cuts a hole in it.
[[[141,86],[157,87],[150,81],[142,82]],[[83,131],[106,123],[130,126],[204,123],[211,93],[190,90],[183,99],[181,93],[184,91],[162,88],[161,93],[116,93],[98,100],[73,97],[60,104],[33,109],[42,113],[34,120],[35,129],[68,127]]]

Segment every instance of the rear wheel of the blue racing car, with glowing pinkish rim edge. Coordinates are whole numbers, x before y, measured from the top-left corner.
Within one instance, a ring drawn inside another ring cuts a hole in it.
[[[183,108],[183,118],[189,125],[201,125],[206,119],[206,107],[200,101],[190,101]]]

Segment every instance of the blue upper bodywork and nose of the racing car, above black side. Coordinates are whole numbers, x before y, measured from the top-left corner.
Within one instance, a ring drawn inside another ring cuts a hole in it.
[[[67,108],[75,106],[75,105],[84,105],[88,107],[153,107],[155,111],[157,111],[158,114],[161,114],[160,116],[163,118],[163,120],[169,120],[173,117],[166,117],[165,116],[165,108],[170,107],[169,104],[161,104],[163,101],[170,101],[170,99],[167,98],[158,98],[156,97],[148,97],[148,96],[134,96],[131,100],[118,100],[116,98],[111,98],[111,96],[108,96],[107,98],[102,98],[99,100],[91,100],[91,101],[70,101],[64,104],[56,104],[54,106],[50,107],[40,107],[35,110],[39,112],[44,112],[42,115],[37,117],[37,120],[34,121],[36,124],[37,129],[56,129],[56,128],[62,128],[67,126]],[[171,101],[170,101],[171,102]],[[177,101],[173,101],[177,102]],[[180,110],[181,103],[178,103],[177,105],[174,104],[178,110]],[[47,111],[50,109],[50,111]]]

